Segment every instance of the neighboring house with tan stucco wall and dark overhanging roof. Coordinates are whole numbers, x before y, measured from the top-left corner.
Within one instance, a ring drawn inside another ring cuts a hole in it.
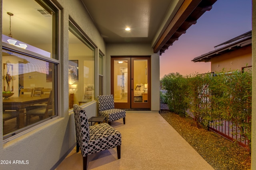
[[[194,62],[211,62],[211,72],[240,70],[252,67],[252,31],[214,47],[214,51],[194,58]]]

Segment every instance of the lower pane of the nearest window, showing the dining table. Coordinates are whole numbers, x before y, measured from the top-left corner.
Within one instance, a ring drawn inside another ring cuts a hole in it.
[[[4,135],[56,115],[55,64],[5,49],[2,49],[2,61],[6,72],[2,89]],[[6,98],[8,94],[12,95]]]

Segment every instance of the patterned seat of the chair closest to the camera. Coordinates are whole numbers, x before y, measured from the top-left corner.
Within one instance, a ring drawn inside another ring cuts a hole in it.
[[[121,133],[107,123],[90,126],[89,130],[90,140],[86,155],[121,145]]]

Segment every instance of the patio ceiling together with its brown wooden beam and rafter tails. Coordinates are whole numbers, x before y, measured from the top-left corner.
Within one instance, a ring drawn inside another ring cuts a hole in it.
[[[151,43],[160,55],[216,0],[82,0],[106,43]],[[130,27],[130,31],[125,31]]]

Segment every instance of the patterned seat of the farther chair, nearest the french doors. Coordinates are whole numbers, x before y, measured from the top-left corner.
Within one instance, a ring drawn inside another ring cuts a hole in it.
[[[125,110],[122,109],[108,109],[104,111],[99,111],[98,116],[106,117],[106,121],[114,121],[126,116]]]

